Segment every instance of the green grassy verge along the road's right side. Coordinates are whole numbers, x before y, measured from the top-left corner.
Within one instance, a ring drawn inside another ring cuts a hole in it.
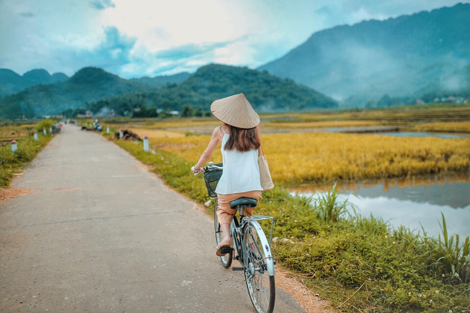
[[[170,187],[200,203],[209,200],[203,178],[189,171],[192,163],[159,150],[145,153],[141,143],[116,143],[154,166]],[[280,187],[263,193],[257,214],[274,217],[278,264],[342,312],[470,312],[468,238],[461,245],[447,234],[444,217],[442,239],[392,228],[354,214],[337,194],[333,189],[312,202]]]

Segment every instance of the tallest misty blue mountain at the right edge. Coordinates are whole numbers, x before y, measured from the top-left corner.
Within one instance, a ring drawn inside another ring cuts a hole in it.
[[[336,99],[367,101],[470,88],[469,64],[470,4],[459,3],[319,31],[258,69]]]

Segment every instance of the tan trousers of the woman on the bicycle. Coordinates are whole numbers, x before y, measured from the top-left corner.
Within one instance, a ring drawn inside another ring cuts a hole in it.
[[[234,201],[238,198],[253,198],[259,202],[263,197],[261,197],[260,190],[253,190],[247,192],[240,192],[236,194],[222,195],[217,194],[217,218],[219,219],[219,224],[230,224],[236,214],[236,209],[230,208],[230,201]],[[245,216],[253,216],[253,211],[256,207],[246,207],[243,209]]]

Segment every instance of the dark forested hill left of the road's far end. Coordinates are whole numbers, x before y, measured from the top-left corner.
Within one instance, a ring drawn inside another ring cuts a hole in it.
[[[31,75],[38,78],[43,74],[33,72]],[[67,109],[83,108],[86,102],[149,89],[101,68],[85,67],[65,82],[35,85],[6,96],[0,100],[0,116],[15,118],[21,114],[27,117],[58,114]]]

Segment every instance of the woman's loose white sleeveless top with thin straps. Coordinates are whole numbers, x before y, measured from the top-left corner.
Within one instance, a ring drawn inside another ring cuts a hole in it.
[[[224,128],[222,127],[222,130]],[[222,195],[235,194],[253,190],[263,190],[259,179],[258,149],[239,152],[236,149],[224,150],[229,134],[222,138],[222,161],[224,171],[215,192]]]

